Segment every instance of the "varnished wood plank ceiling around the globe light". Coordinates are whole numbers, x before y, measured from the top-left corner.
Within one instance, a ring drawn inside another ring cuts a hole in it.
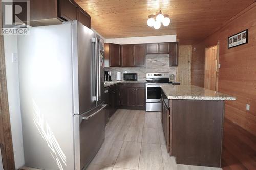
[[[177,34],[181,44],[202,40],[255,0],[75,0],[105,38]],[[147,26],[148,15],[162,10],[172,20],[160,29]]]

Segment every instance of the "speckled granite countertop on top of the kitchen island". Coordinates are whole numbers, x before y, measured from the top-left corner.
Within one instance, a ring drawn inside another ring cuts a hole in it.
[[[227,94],[193,85],[161,85],[160,87],[168,99],[236,100]]]

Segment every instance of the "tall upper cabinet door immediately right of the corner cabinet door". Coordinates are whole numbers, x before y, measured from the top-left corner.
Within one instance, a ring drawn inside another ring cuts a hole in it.
[[[134,66],[133,45],[122,45],[122,67]]]

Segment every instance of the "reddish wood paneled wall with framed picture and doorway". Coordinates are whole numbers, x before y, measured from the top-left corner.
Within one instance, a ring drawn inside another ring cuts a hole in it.
[[[256,2],[227,21],[221,29],[194,44],[191,84],[204,86],[205,48],[220,41],[218,91],[236,96],[227,101],[225,117],[256,135]],[[227,48],[227,38],[249,30],[248,44]],[[250,111],[246,110],[250,104]]]

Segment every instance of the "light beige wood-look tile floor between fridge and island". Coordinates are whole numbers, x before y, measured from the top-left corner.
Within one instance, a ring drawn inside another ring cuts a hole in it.
[[[22,168],[24,170],[35,170]],[[176,164],[165,147],[159,112],[117,110],[87,170],[219,170]]]

